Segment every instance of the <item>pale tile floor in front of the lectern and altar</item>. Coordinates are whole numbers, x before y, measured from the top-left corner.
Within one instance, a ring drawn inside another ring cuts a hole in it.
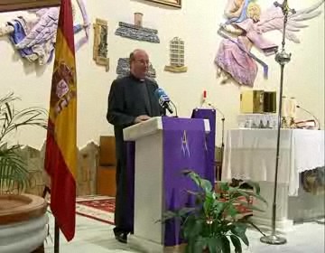
[[[60,235],[60,253],[135,253],[138,252],[127,245],[116,241],[113,226],[97,220],[77,216],[77,229],[75,238],[68,243]],[[53,238],[53,218],[50,217],[51,239]],[[303,223],[294,226],[294,230],[286,236],[288,243],[283,246],[270,246],[260,243],[260,234],[249,230],[247,237],[250,247],[245,248],[245,253],[323,253],[325,252],[325,226],[316,222]],[[53,242],[47,239],[45,252],[54,252]]]

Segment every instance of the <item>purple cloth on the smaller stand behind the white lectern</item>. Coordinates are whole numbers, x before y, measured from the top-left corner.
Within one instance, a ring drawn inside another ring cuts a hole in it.
[[[207,180],[214,185],[215,175],[215,148],[216,148],[216,110],[209,108],[196,108],[193,109],[192,118],[207,118],[209,119],[210,132],[207,135],[207,167],[205,175]]]

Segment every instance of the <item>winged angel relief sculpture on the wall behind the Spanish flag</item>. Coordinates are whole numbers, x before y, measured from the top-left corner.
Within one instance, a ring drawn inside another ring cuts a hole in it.
[[[88,42],[90,23],[83,0],[77,0],[83,23],[74,24],[74,33],[85,31],[79,42],[76,43],[76,51],[81,45]],[[59,7],[29,10],[17,16],[14,20],[0,24],[0,36],[8,35],[20,55],[31,62],[37,61],[40,65],[49,63],[54,52],[56,32],[59,20]],[[73,7],[75,14],[75,8]]]

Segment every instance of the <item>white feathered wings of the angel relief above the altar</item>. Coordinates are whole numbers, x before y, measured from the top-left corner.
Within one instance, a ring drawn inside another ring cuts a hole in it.
[[[285,37],[292,42],[299,43],[300,40],[295,32],[299,32],[301,28],[308,27],[308,25],[302,23],[302,21],[310,20],[321,14],[321,11],[317,9],[323,3],[324,0],[320,0],[320,2],[311,5],[309,8],[297,11],[295,14],[289,14]],[[260,21],[255,23],[255,29],[260,33],[266,33],[273,30],[283,31],[283,18],[282,9],[272,6],[261,15]]]

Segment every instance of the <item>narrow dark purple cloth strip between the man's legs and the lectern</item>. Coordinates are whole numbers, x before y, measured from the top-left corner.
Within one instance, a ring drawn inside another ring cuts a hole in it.
[[[125,142],[127,200],[125,200],[127,220],[125,224],[133,232],[135,225],[135,142]]]

